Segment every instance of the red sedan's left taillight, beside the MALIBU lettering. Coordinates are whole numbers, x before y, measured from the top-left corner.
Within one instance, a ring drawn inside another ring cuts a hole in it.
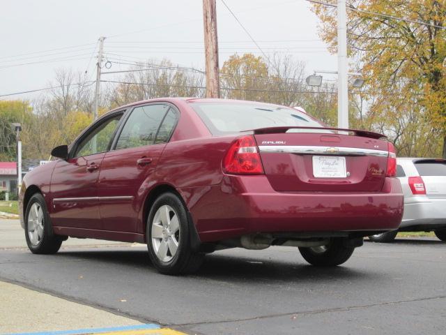
[[[223,160],[223,170],[231,174],[263,174],[259,148],[252,136],[238,138]]]

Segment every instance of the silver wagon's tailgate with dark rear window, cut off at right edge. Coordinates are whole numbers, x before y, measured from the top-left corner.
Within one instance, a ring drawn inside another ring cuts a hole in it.
[[[428,198],[446,198],[446,161],[444,159],[415,160],[415,168],[424,181]]]

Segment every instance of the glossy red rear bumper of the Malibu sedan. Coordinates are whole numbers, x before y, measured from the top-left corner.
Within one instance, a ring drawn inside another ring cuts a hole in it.
[[[277,192],[263,175],[225,176],[222,184],[196,191],[187,190],[185,198],[201,241],[257,232],[379,232],[397,229],[403,216],[394,178],[381,193]]]

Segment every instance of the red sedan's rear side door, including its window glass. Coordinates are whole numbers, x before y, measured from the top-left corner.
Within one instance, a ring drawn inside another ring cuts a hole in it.
[[[100,169],[103,230],[137,232],[146,190],[155,182],[157,162],[178,116],[174,107],[164,103],[134,107],[130,112]]]

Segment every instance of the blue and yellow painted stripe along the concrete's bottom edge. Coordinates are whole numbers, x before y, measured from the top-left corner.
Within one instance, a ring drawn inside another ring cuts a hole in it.
[[[177,332],[174,329],[161,328],[160,325],[155,325],[153,323],[149,323],[146,325],[133,325],[133,326],[123,326],[123,327],[59,330],[59,331],[55,331],[55,332],[18,333],[18,334],[4,334],[4,335],[85,335],[85,334],[186,335],[185,333]]]

